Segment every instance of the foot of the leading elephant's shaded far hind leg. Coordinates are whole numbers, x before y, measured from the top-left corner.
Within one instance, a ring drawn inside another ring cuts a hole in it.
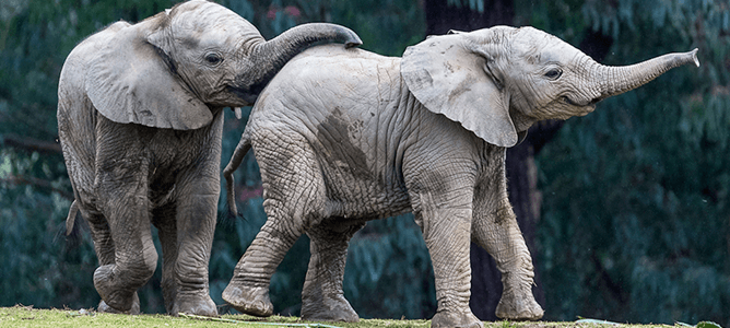
[[[343,295],[337,294],[333,297],[323,296],[304,297],[302,301],[302,319],[308,321],[344,321],[357,323],[360,316],[352,308],[350,302]]]

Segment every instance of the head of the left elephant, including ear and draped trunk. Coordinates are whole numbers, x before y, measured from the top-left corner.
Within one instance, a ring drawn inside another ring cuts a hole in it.
[[[89,63],[89,98],[113,121],[178,130],[210,124],[211,110],[251,105],[287,60],[314,44],[362,43],[349,28],[325,23],[266,42],[249,22],[204,0],[117,24],[123,26],[113,26]]]

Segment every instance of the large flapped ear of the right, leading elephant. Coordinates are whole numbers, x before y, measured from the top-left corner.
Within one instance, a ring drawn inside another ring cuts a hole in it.
[[[498,147],[518,137],[509,117],[509,99],[488,75],[483,51],[470,49],[463,34],[434,36],[408,47],[401,75],[416,99]]]

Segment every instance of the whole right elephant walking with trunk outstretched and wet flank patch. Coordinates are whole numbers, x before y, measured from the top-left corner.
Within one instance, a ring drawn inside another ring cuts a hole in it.
[[[342,293],[350,237],[366,221],[412,211],[436,277],[432,327],[481,327],[469,308],[469,245],[496,260],[496,315],[538,319],[533,268],[505,181],[505,150],[535,121],[596,103],[696,61],[695,51],[604,67],[544,32],[498,26],[434,36],[403,58],[315,47],[261,93],[224,171],[254,148],[268,221],[223,298],[272,314],[269,282],[296,238],[311,238],[302,317],[357,320]]]

